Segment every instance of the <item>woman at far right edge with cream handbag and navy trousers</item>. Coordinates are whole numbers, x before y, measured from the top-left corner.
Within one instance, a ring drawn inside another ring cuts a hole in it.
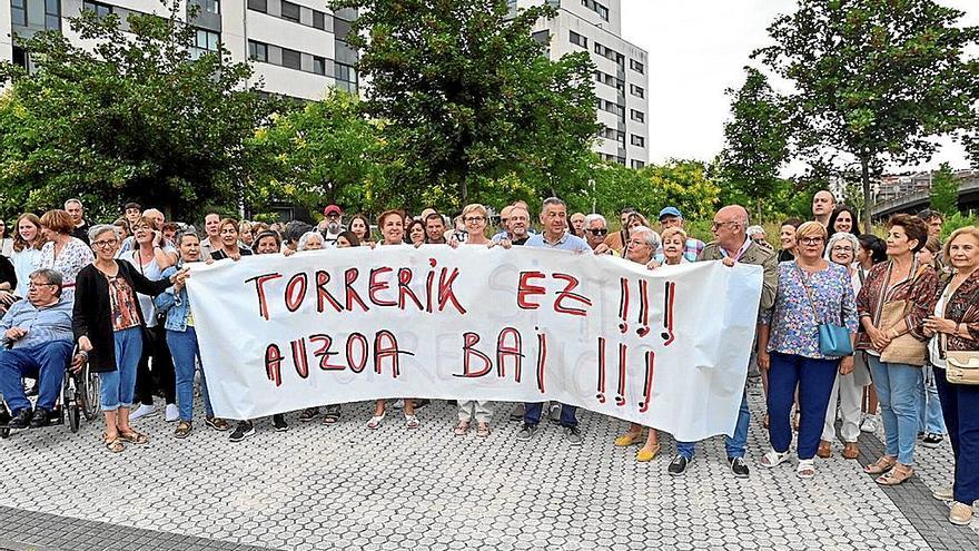
[[[979,500],[979,229],[957,229],[945,245],[953,274],[934,314],[924,319],[941,411],[956,459],[955,485],[934,496],[952,501],[949,521],[965,525]]]

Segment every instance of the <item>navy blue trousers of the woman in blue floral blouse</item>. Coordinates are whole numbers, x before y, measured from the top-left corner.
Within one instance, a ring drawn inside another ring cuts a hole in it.
[[[789,451],[792,426],[789,414],[799,388],[800,460],[811,460],[819,449],[825,411],[837,380],[839,360],[817,360],[795,354],[771,353],[769,367],[769,440],[779,453]]]

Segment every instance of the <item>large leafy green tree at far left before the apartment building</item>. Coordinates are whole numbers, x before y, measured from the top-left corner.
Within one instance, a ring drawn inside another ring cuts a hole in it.
[[[59,32],[18,41],[37,65],[0,65],[0,188],[17,208],[80,196],[95,219],[121,203],[192,217],[240,196],[244,142],[270,111],[247,85],[247,63],[194,48],[184,4],[166,18],[83,11],[70,22],[89,46]]]

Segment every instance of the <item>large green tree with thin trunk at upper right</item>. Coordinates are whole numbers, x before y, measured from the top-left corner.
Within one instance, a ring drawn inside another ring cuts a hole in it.
[[[930,137],[972,125],[977,63],[963,52],[979,29],[962,14],[932,0],[799,0],[769,27],[775,43],[754,52],[794,90],[799,150],[848,156],[870,197],[888,161],[927,159]]]

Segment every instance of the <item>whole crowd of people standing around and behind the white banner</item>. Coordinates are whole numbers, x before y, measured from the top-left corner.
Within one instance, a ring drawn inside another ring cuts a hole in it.
[[[166,420],[176,423],[174,435],[188,437],[196,381],[207,426],[229,431],[233,442],[254,434],[255,420],[239,420],[233,427],[211,409],[184,287],[186,265],[195,262],[333,247],[446,245],[607,254],[650,269],[703,260],[743,263],[761,266],[764,274],[756,338],[744,343],[752,348],[765,393],[762,422],[771,449],[759,464],[775,468],[790,461],[795,432],[795,472],[813,478],[815,457],[833,454],[838,420],[841,455],[854,460],[861,431],[877,429],[879,409],[886,452],[864,471],[880,484],[901,484],[914,474],[916,445],[940,445],[948,436],[955,484],[934,496],[952,503],[951,522],[971,520],[979,499],[979,385],[969,384],[979,383],[973,381],[979,378],[979,229],[973,226],[955,230],[942,243],[941,215],[922,211],[892,216],[884,239],[861,235],[857,211],[837,205],[825,190],[813,197],[811,220],[782,224],[775,246],[763,228],[749,225],[748,211],[736,205],[716,211],[708,244],[688,235],[683,215],[673,206],[660,210],[655,224],[636,209],[623,209],[616,232],[610,232],[602,215],[571,214],[553,197],[543,201],[536,217],[524,201],[503,207],[498,227],[477,204],[454,218],[431,208],[417,216],[387,210],[376,218],[376,230],[367,216],[346,217],[336,205],[323,214],[316,226],[208,214],[200,233],[134,203],[111,224],[89,225],[77,199],[40,217],[18,217],[12,238],[0,234],[6,348],[0,351],[0,394],[12,416],[7,426],[50,424],[66,368],[88,363],[101,383],[101,437],[110,452],[149,442],[131,421],[157,413],[157,396]],[[78,353],[72,356],[75,345]],[[32,387],[24,386],[26,378],[36,381]],[[33,405],[31,393],[37,393]],[[379,427],[389,409],[400,409],[405,426],[417,429],[418,411],[426,403],[378,400],[366,426]],[[454,434],[474,429],[479,437],[490,435],[493,404],[454,405]],[[582,443],[572,405],[517,404],[507,416],[522,421],[520,441],[532,440],[546,416],[562,426],[570,444]],[[334,424],[340,419],[340,404],[298,413],[301,422]],[[728,468],[739,478],[750,473],[744,457],[749,423],[745,392],[735,429],[725,437]],[[274,415],[271,424],[276,431],[288,430],[284,414]],[[614,445],[640,445],[637,461],[661,452],[657,431],[635,423]],[[676,442],[668,472],[682,475],[695,446]]]

